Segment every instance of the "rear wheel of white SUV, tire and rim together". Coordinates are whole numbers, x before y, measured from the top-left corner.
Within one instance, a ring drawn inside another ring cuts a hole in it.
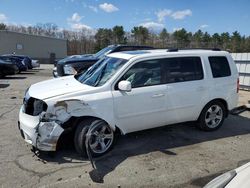
[[[203,108],[197,126],[203,131],[217,130],[222,126],[225,116],[226,109],[221,102],[210,102]]]

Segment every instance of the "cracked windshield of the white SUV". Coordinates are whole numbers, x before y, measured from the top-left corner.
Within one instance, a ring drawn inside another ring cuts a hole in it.
[[[90,86],[102,86],[105,84],[127,60],[113,57],[105,57],[97,61],[85,73],[77,75],[75,78]]]

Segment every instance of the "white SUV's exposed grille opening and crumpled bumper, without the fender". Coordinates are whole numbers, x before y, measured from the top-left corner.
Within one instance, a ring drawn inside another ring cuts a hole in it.
[[[41,151],[55,151],[64,131],[54,115],[47,114],[48,105],[35,98],[25,98],[19,113],[19,128],[25,141]]]

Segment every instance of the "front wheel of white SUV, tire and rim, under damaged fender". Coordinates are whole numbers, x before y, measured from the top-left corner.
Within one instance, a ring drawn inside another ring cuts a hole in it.
[[[80,121],[75,131],[74,145],[77,153],[87,157],[85,141],[89,128],[92,129],[88,145],[91,155],[98,157],[110,151],[115,142],[114,131],[103,120],[87,119]]]

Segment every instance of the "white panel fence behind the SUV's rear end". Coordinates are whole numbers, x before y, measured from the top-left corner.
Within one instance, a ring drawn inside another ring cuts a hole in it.
[[[250,90],[250,53],[231,54],[240,76],[240,88]]]

